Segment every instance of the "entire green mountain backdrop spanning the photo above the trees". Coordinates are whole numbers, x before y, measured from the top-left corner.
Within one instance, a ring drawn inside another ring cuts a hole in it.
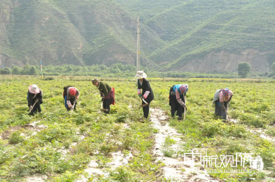
[[[272,0],[1,0],[0,67],[135,65],[155,70],[265,71],[275,61]]]

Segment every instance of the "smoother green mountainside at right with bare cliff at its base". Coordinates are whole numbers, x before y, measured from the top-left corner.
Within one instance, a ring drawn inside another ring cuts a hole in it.
[[[162,70],[235,70],[275,61],[275,3],[270,0],[116,0],[166,42],[148,58]]]

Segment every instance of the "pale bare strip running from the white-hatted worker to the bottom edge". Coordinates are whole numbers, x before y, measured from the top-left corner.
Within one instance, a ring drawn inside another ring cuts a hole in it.
[[[175,129],[169,127],[167,122],[167,116],[165,116],[164,111],[160,109],[151,109],[151,122],[152,127],[158,129],[158,133],[154,134],[155,145],[153,146],[153,154],[157,161],[164,163],[163,174],[166,179],[171,179],[171,181],[188,181],[188,182],[218,182],[211,178],[208,174],[197,174],[199,171],[199,163],[186,158],[185,161],[182,157],[176,157],[172,155],[171,157],[165,157],[163,155],[163,144],[165,138],[169,137],[175,143],[169,147],[169,150],[174,151],[176,154],[180,150],[180,146],[183,141],[180,139],[181,134],[177,133]]]

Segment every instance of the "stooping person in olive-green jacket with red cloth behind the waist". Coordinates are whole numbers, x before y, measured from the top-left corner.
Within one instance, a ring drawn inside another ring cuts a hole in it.
[[[98,88],[101,96],[103,112],[109,114],[110,105],[114,105],[114,88],[110,87],[107,83],[99,81],[97,78],[93,78],[91,83]]]

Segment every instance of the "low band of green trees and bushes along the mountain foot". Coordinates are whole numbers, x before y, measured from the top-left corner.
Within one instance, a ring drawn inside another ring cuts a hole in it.
[[[182,71],[159,72],[149,70],[147,67],[140,67],[150,77],[172,77],[172,78],[275,78],[275,62],[271,65],[271,72],[251,72],[248,62],[240,62],[237,66],[237,73],[234,72],[216,72],[216,73],[196,73]],[[90,66],[77,65],[46,65],[43,66],[42,73],[44,76],[105,76],[105,77],[132,77],[135,75],[136,68],[134,65],[116,63],[107,67],[103,64],[93,64]],[[39,65],[24,64],[23,67],[13,65],[11,68],[5,67],[0,69],[0,74],[5,75],[40,75]]]

